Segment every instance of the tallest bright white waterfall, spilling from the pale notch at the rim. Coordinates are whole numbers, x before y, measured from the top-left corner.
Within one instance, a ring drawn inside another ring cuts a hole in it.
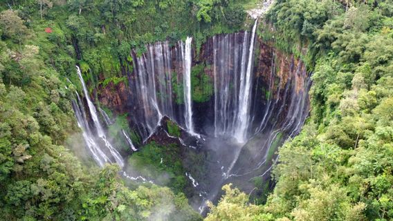
[[[250,40],[250,48],[248,51],[248,63],[247,63],[247,70],[246,76],[244,79],[243,75],[241,77],[241,86],[240,86],[240,93],[239,93],[239,114],[238,117],[238,125],[237,131],[235,133],[237,140],[241,143],[246,142],[247,139],[247,129],[249,124],[250,118],[250,90],[251,90],[251,81],[253,79],[253,53],[254,53],[254,39],[255,39],[255,30],[257,30],[257,19],[255,19],[253,33],[251,35]]]

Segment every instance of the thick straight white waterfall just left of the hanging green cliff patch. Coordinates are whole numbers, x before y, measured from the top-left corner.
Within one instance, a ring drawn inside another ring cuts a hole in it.
[[[191,99],[191,37],[187,37],[184,46],[183,62],[183,86],[184,86],[184,103],[185,103],[185,128],[194,135],[194,126],[192,124],[192,99]]]

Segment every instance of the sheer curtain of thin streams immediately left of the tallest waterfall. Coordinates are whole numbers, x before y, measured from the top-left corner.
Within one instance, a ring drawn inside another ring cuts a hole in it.
[[[213,37],[214,137],[235,137],[247,46],[247,31]]]

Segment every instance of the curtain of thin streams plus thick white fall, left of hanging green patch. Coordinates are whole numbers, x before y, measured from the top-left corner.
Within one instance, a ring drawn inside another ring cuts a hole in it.
[[[154,133],[164,115],[196,135],[192,122],[191,43],[192,38],[188,37],[173,48],[167,41],[148,44],[139,57],[131,52],[134,62],[131,87],[139,107],[134,121],[146,129],[144,138]]]

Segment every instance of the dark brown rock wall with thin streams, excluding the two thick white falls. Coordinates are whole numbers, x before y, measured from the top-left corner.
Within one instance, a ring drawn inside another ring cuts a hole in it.
[[[192,50],[192,120],[197,133],[234,135],[241,69],[246,68],[242,59],[248,59],[241,54],[244,48],[248,50],[249,41],[247,32],[217,35],[201,46],[198,55]],[[131,127],[145,138],[163,115],[185,128],[182,44],[158,42],[147,46],[140,57],[132,51],[133,61],[125,70],[128,81],[100,86],[100,104],[116,114],[127,113]],[[295,119],[304,119],[308,111],[303,94],[308,91],[309,75],[303,62],[261,39],[255,43],[253,56],[248,138],[270,124],[282,124],[289,111],[296,112],[291,113]],[[302,111],[290,110],[289,104],[299,100],[304,100]]]

